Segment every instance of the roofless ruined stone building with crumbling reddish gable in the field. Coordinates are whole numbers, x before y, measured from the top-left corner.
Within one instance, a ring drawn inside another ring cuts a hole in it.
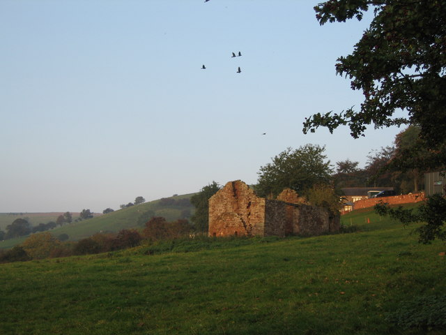
[[[290,189],[270,200],[259,198],[247,184],[236,180],[209,199],[209,236],[318,235],[339,228],[339,216],[305,203]]]

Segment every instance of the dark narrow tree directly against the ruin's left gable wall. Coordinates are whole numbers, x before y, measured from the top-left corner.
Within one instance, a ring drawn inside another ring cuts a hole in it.
[[[213,181],[207,186],[203,186],[199,193],[192,195],[190,202],[195,207],[195,212],[190,220],[194,228],[199,232],[207,232],[209,227],[209,203],[208,200],[220,190],[220,185]]]

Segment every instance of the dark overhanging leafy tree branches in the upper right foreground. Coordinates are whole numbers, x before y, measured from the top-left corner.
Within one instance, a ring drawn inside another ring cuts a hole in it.
[[[347,125],[351,135],[359,137],[369,124],[417,125],[422,148],[431,149],[435,158],[431,163],[444,165],[446,1],[330,0],[314,9],[322,25],[361,20],[369,8],[375,13],[369,29],[352,54],[339,57],[336,64],[337,74],[348,76],[352,89],[362,90],[364,102],[359,110],[314,114],[305,120],[303,131],[324,126],[332,132]],[[399,110],[407,117],[394,117]]]

